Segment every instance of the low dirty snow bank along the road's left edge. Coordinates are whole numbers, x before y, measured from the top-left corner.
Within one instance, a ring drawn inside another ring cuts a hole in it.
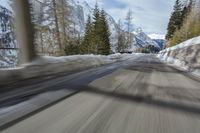
[[[64,57],[39,57],[35,61],[14,69],[0,69],[0,84],[62,72],[81,71],[132,58],[132,54],[74,55]]]

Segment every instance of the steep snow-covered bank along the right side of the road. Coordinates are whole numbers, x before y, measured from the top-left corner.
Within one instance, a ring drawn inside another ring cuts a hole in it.
[[[160,51],[158,58],[200,77],[200,36]]]

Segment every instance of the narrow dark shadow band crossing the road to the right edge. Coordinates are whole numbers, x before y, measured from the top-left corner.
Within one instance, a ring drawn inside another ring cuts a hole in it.
[[[154,106],[158,108],[164,108],[164,109],[179,111],[182,113],[190,113],[193,115],[200,116],[200,107],[192,106],[189,104],[165,101],[161,99],[154,99],[152,95],[143,96],[143,95],[131,95],[131,94],[118,93],[116,91],[109,92],[109,91],[105,91],[105,90],[101,90],[101,89],[93,88],[89,86],[82,86],[81,88],[84,88],[84,91],[88,93],[100,94],[100,95],[104,95],[108,97],[117,98],[120,100],[131,101],[133,103],[145,104],[145,105]]]

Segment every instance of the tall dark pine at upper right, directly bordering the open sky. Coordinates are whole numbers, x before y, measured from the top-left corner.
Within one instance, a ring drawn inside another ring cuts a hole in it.
[[[173,37],[173,34],[176,30],[179,30],[182,26],[183,20],[182,20],[182,4],[180,0],[176,0],[173,13],[170,17],[170,21],[168,24],[168,33],[166,35],[166,39],[169,40]]]

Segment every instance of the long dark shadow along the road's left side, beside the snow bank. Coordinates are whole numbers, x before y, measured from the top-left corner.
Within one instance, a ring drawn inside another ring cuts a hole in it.
[[[70,80],[66,80],[59,84],[57,84],[55,81],[52,81],[52,82],[55,82],[55,85],[51,85],[51,86],[49,86],[47,83],[44,82],[45,84],[41,83],[41,84],[34,85],[33,83],[33,85],[30,87],[12,88],[13,90],[5,89],[6,91],[1,91],[0,89],[0,108],[9,107],[9,106],[27,101],[41,93],[58,91],[58,90],[67,89],[67,88],[70,88],[69,90],[79,91],[81,89],[77,86],[87,85],[93,80],[96,80],[98,78],[104,77],[105,75],[113,73],[115,70],[116,69],[111,69],[111,70],[104,71],[101,73],[96,73],[96,74],[94,73],[92,75],[88,74],[88,73],[91,73],[89,71],[85,75],[80,75],[78,77],[76,76],[74,78],[71,78]],[[60,80],[64,80],[64,79],[65,77],[60,78]],[[43,87],[44,85],[47,85],[47,86]]]

